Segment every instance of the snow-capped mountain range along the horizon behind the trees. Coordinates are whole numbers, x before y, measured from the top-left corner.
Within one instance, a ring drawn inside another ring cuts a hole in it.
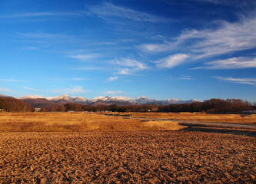
[[[87,99],[84,97],[69,97],[67,94],[61,95],[59,97],[42,97],[42,96],[25,96],[18,97],[19,100],[23,100],[32,107],[51,107],[52,105],[64,105],[68,103],[82,104],[82,105],[145,105],[145,104],[155,104],[155,105],[169,105],[169,104],[191,104],[193,102],[198,102],[198,100],[178,100],[175,98],[167,100],[155,100],[149,99],[145,96],[137,97],[135,99],[130,99],[128,97],[95,97],[94,99]]]

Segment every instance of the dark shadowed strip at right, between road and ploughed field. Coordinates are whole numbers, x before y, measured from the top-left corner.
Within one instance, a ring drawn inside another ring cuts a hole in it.
[[[256,130],[243,129],[243,128],[231,128],[223,126],[207,126],[201,124],[180,123],[182,126],[188,126],[182,130],[193,132],[206,132],[206,133],[227,133],[242,136],[256,136]]]

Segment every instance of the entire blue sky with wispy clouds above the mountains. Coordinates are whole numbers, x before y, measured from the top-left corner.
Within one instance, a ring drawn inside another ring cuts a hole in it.
[[[0,94],[256,101],[254,0],[1,0]]]

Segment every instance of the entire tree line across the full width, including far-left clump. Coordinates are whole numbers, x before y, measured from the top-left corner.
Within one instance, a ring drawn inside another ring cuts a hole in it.
[[[10,112],[30,112],[33,109],[22,100],[15,98],[0,98],[0,109]],[[112,112],[205,112],[205,113],[241,113],[244,110],[256,110],[256,103],[251,104],[248,101],[240,99],[211,99],[203,102],[194,102],[192,104],[170,104],[170,105],[81,105],[65,104],[54,105],[52,107],[42,107],[42,112],[67,112],[67,111],[112,111]]]

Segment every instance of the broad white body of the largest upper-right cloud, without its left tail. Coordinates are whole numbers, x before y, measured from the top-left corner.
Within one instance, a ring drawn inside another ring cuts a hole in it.
[[[192,30],[183,33],[178,41],[195,39],[192,53],[195,59],[244,51],[256,47],[256,18],[244,18],[236,23],[222,21],[215,30]]]

